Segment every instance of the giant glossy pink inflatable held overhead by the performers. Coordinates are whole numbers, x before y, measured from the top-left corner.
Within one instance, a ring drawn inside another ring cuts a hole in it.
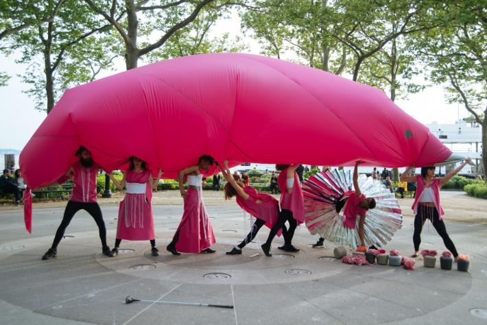
[[[21,153],[27,184],[60,178],[80,145],[105,169],[137,156],[165,178],[202,154],[231,165],[385,167],[451,154],[377,88],[241,53],[166,60],[69,89]]]

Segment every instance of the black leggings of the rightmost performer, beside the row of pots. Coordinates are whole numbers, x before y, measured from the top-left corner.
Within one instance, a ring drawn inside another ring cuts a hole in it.
[[[414,243],[414,250],[416,252],[419,251],[419,245],[421,243],[421,230],[423,230],[423,225],[425,224],[426,219],[429,219],[433,224],[433,227],[436,229],[436,232],[441,236],[443,239],[444,245],[447,249],[453,254],[453,256],[457,257],[458,252],[451,241],[449,235],[447,234],[447,228],[444,226],[443,220],[440,220],[440,215],[438,215],[438,210],[436,210],[433,206],[418,206],[418,214],[414,217],[414,234],[413,234],[413,243]]]

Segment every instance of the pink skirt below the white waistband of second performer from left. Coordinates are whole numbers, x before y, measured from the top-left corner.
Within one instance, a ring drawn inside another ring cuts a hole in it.
[[[119,207],[117,239],[149,241],[156,239],[152,204],[145,194],[126,193]]]

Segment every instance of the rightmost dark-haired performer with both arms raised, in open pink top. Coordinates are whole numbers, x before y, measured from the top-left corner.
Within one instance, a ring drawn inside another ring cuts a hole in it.
[[[421,230],[423,230],[426,219],[429,219],[436,232],[442,237],[444,245],[453,254],[453,257],[455,257],[455,261],[458,261],[457,249],[453,241],[451,241],[447,233],[447,227],[442,220],[444,210],[440,204],[440,189],[441,186],[446,184],[450,178],[461,171],[470,161],[470,159],[465,160],[462,165],[453,169],[453,171],[450,171],[444,177],[435,177],[434,166],[421,167],[421,175],[416,176],[407,176],[409,171],[414,170],[414,167],[408,167],[401,175],[401,182],[416,182],[417,184],[416,197],[411,207],[415,215],[413,234],[414,254],[412,257],[417,257],[419,254]]]

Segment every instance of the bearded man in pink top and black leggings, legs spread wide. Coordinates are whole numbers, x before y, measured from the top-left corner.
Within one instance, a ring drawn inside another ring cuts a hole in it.
[[[102,241],[103,254],[110,254],[110,248],[106,245],[106,228],[103,221],[102,210],[100,210],[99,205],[97,204],[97,173],[99,165],[93,162],[91,152],[85,147],[80,147],[76,152],[76,156],[80,158],[80,161],[75,163],[69,171],[58,180],[58,184],[62,184],[73,177],[73,193],[64,210],[64,215],[58,231],[56,231],[56,237],[54,237],[52,246],[45,252],[43,260],[56,257],[58,244],[64,235],[64,231],[69,226],[75,213],[79,210],[85,210],[91,217],[93,217],[93,219],[95,219],[99,230],[99,239]]]

